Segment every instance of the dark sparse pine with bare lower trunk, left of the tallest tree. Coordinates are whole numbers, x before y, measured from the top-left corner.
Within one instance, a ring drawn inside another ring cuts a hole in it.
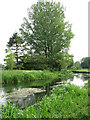
[[[11,48],[14,51],[16,58],[16,65],[19,64],[20,54],[22,54],[22,44],[24,41],[18,35],[18,33],[14,33],[12,37],[10,37],[7,47]]]

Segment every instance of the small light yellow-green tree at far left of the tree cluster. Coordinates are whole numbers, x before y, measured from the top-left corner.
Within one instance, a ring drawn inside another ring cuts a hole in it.
[[[12,53],[11,49],[9,49],[7,51],[7,55],[6,58],[4,59],[4,61],[6,62],[6,69],[12,70],[13,68],[15,68],[15,55],[14,53]]]

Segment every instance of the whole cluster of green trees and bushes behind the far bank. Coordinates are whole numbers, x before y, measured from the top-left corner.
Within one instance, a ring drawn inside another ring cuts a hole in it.
[[[73,56],[68,53],[74,34],[65,22],[60,2],[37,2],[7,43],[6,69],[67,69]]]

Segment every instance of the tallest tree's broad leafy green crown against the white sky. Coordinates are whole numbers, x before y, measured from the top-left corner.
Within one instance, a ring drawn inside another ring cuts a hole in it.
[[[44,55],[51,61],[69,49],[74,34],[71,24],[64,21],[64,7],[60,2],[37,2],[28,9],[20,31],[30,47],[31,55]]]

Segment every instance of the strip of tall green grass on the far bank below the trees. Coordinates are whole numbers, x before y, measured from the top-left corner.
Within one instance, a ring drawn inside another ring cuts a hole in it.
[[[26,71],[26,70],[3,70],[2,83],[21,83],[41,80],[58,80],[60,78],[70,77],[73,73],[70,71],[50,72],[50,71]]]

